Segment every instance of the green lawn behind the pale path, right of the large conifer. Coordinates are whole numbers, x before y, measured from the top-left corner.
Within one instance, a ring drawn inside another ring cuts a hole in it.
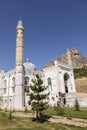
[[[54,108],[48,108],[43,113],[47,115],[57,115]],[[63,116],[87,119],[87,108],[80,108],[80,111],[75,111],[75,108],[65,108]]]

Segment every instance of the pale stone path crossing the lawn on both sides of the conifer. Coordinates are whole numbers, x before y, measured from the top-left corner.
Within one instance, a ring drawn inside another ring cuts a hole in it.
[[[23,112],[15,112],[13,113],[14,117],[35,117],[34,113],[23,113]],[[68,118],[68,117],[61,117],[61,116],[52,116],[48,119],[48,121],[53,123],[63,123],[69,124],[74,126],[81,126],[87,127],[87,119],[79,119],[79,118]]]

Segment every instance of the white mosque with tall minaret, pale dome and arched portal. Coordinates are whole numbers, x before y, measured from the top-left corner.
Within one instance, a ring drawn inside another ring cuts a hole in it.
[[[21,20],[18,21],[16,31],[16,66],[8,72],[0,70],[0,108],[21,110],[29,107],[29,85],[36,74],[48,86],[50,94],[47,100],[50,106],[56,105],[59,93],[65,95],[66,105],[73,106],[77,97],[70,51],[67,50],[68,64],[54,60],[38,70],[30,60],[24,63],[24,26]],[[81,104],[87,104],[87,99]]]

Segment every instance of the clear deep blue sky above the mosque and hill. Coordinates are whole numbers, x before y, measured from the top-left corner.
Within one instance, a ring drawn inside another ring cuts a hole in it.
[[[0,69],[15,67],[16,26],[21,17],[24,59],[41,69],[77,47],[87,57],[87,0],[0,0]]]

